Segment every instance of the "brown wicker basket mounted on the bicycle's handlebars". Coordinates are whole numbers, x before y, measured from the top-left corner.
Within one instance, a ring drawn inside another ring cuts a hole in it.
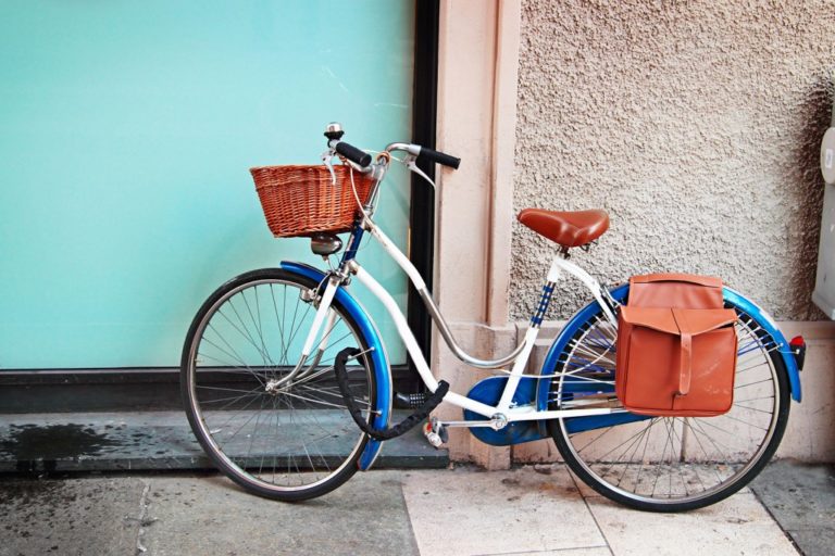
[[[357,216],[349,166],[334,166],[336,184],[326,166],[262,166],[250,168],[264,208],[266,225],[276,238],[310,236],[316,231],[348,231]],[[353,173],[357,195],[365,202],[374,180]]]

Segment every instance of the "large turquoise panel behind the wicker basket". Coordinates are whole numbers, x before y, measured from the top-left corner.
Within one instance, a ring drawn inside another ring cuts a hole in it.
[[[176,366],[221,282],[283,258],[250,166],[314,164],[324,125],[411,137],[411,1],[0,3],[0,368]],[[406,248],[408,182],[378,222]],[[376,247],[361,262],[406,307]],[[392,326],[369,295],[396,362]]]

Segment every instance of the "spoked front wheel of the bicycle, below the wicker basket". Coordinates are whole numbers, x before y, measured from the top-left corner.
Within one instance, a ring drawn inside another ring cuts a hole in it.
[[[213,463],[260,496],[321,496],[357,471],[369,439],[351,419],[333,363],[346,348],[363,418],[378,415],[373,361],[352,316],[334,300],[317,343],[288,378],[316,313],[319,285],[283,269],[223,285],[195,317],[183,349],[180,386],[191,429]]]

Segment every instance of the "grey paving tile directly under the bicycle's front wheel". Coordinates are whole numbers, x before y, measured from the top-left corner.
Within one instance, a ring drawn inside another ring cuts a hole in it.
[[[247,494],[222,477],[154,478],[144,542],[154,556],[418,556],[401,475],[357,473],[295,504]]]

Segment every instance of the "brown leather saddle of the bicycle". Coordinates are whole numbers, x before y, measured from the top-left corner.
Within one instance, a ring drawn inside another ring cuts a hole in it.
[[[556,212],[524,208],[518,218],[563,250],[587,245],[609,229],[609,215],[600,210]]]

